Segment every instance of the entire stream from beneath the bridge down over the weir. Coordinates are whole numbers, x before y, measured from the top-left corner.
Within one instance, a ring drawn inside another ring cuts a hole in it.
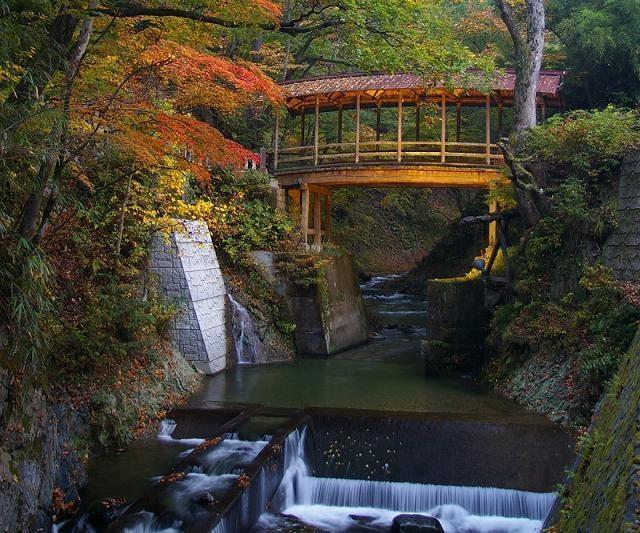
[[[331,358],[255,364],[237,304],[238,364],[156,437],[94,461],[56,531],[540,531],[572,439],[469,380],[425,379],[426,304],[396,278],[361,285],[376,331]]]

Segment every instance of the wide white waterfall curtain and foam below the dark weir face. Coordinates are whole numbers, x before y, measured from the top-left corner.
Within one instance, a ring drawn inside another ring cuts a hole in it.
[[[367,517],[370,525],[390,526],[401,513],[438,518],[447,533],[540,531],[555,493],[533,493],[486,487],[455,487],[316,478],[305,459],[305,431],[285,442],[285,474],[277,511],[323,530],[344,531]],[[258,531],[278,529],[279,517],[265,514]]]

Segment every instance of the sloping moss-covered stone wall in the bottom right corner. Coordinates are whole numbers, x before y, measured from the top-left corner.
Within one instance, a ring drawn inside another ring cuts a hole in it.
[[[640,531],[640,330],[580,445],[558,532]]]

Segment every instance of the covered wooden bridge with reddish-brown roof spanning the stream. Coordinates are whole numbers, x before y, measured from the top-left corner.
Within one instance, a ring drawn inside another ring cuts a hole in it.
[[[562,105],[563,74],[540,75],[541,121]],[[302,242],[331,239],[333,187],[489,188],[500,179],[495,142],[510,129],[515,73],[489,86],[428,85],[414,74],[283,83],[288,114],[276,112],[272,172],[286,208],[299,213]]]

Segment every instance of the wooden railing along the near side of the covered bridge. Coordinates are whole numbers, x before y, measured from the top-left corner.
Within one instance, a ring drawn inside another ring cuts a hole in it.
[[[500,166],[497,145],[440,141],[367,141],[276,148],[274,169],[353,163],[440,163]]]

